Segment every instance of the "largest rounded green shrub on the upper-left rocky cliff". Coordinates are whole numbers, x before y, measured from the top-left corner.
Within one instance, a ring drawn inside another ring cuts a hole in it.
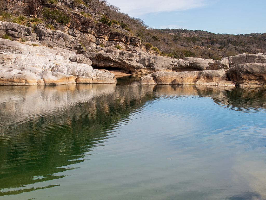
[[[42,14],[45,21],[52,24],[53,26],[56,26],[57,24],[66,25],[70,21],[70,17],[60,10],[44,8]]]

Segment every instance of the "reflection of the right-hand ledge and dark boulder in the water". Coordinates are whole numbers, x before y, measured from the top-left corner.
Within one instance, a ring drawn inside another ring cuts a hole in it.
[[[219,105],[247,111],[248,108],[266,109],[266,87],[217,87],[201,85],[156,85],[156,96],[208,96]],[[254,111],[254,109],[252,109]],[[252,112],[253,112],[252,111]]]

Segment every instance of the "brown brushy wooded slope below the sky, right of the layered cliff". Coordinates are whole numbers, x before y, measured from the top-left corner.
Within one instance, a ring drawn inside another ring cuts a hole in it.
[[[150,49],[160,52],[161,55],[177,59],[184,57],[221,59],[241,53],[266,52],[266,33],[233,35],[214,34],[202,30],[157,30],[145,25],[142,19],[119,12],[117,6],[108,4],[106,0],[84,0],[84,2],[91,10],[140,37],[144,47],[150,43],[152,45]]]

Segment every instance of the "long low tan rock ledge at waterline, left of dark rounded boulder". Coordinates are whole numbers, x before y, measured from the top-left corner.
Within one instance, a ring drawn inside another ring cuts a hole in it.
[[[157,71],[142,77],[140,84],[235,86],[225,70],[167,72]]]

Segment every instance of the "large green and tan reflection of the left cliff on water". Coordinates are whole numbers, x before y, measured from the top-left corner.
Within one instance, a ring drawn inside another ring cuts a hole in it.
[[[119,121],[154,98],[152,88],[116,87],[1,87],[0,196],[41,189],[22,186],[61,178],[56,173],[73,169],[68,166],[82,162],[112,137]]]

